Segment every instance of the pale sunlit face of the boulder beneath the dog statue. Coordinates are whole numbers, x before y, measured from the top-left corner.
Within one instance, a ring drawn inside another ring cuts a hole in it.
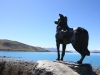
[[[47,60],[37,61],[32,73],[33,75],[79,75],[65,64]]]

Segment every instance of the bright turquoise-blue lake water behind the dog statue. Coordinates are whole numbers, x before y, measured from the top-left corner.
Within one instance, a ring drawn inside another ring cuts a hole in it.
[[[38,61],[38,60],[55,60],[57,58],[56,52],[8,52],[0,51],[0,56],[11,56],[16,58],[6,58],[14,60],[26,60],[26,61]],[[17,58],[21,57],[21,58]],[[64,61],[74,61],[76,62],[81,58],[78,53],[66,53]],[[100,53],[91,53],[90,56],[86,56],[83,63],[90,63],[92,66],[100,66]]]

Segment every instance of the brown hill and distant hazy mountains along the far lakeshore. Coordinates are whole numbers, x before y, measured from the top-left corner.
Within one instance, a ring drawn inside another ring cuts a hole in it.
[[[56,52],[55,47],[36,47],[30,46],[18,41],[12,41],[7,39],[0,39],[0,51],[33,51],[33,52]],[[62,50],[60,50],[62,51]],[[66,52],[76,52],[75,50],[66,50]],[[90,50],[92,53],[100,53],[100,50]]]

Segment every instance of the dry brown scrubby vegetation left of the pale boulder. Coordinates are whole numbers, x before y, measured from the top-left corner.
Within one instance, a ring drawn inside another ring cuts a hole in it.
[[[32,75],[33,62],[0,60],[0,75]]]

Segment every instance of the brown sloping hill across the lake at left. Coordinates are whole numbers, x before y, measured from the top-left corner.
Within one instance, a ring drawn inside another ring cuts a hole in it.
[[[47,52],[41,47],[30,46],[24,43],[11,40],[0,40],[1,51],[34,51],[34,52]]]

